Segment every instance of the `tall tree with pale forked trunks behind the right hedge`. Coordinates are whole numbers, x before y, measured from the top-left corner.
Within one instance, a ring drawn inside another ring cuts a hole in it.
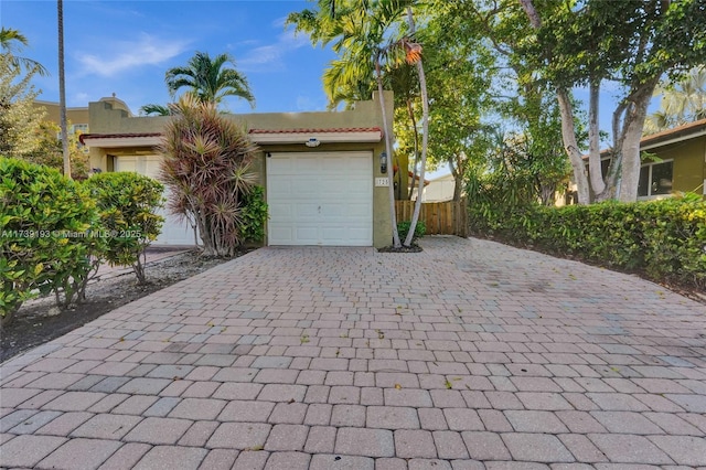
[[[637,200],[640,138],[646,109],[664,73],[689,68],[706,60],[706,29],[702,0],[582,0],[565,2],[518,0],[535,34],[517,52],[534,60],[535,72],[557,90],[564,145],[574,168],[579,203],[616,196],[618,181],[623,202]],[[613,110],[612,158],[601,173],[599,98],[606,81],[618,82],[623,96]],[[584,160],[569,92],[589,89],[589,174]]]

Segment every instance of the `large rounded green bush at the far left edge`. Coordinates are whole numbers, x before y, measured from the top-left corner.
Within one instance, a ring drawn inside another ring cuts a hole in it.
[[[83,299],[103,250],[95,203],[58,171],[0,158],[0,313],[7,323],[38,291]],[[62,299],[63,297],[63,299]]]

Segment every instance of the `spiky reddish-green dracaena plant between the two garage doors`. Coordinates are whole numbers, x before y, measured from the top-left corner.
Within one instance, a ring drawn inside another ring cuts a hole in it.
[[[233,256],[243,242],[243,196],[258,180],[249,171],[257,146],[213,103],[184,94],[170,107],[160,146],[168,209],[199,228],[205,256]]]

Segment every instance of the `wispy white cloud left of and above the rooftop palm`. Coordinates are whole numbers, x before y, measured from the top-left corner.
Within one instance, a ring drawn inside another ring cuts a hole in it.
[[[82,75],[111,76],[142,65],[162,64],[181,54],[186,44],[183,40],[169,41],[142,33],[135,41],[104,44],[99,54],[77,52],[75,55],[83,65]]]

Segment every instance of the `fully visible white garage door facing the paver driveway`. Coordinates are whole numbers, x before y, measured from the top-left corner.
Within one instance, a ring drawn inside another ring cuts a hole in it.
[[[373,245],[371,152],[267,158],[270,245]]]

